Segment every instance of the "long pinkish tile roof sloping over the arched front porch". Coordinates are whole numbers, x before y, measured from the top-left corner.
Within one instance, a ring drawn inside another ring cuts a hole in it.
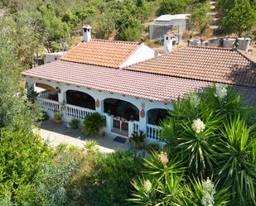
[[[211,84],[200,80],[110,69],[63,60],[56,60],[50,64],[29,69],[22,72],[22,74],[38,79],[47,79],[164,103],[171,102],[179,97],[182,98]],[[241,90],[248,97],[254,96],[254,99],[256,99],[256,89],[242,88]]]

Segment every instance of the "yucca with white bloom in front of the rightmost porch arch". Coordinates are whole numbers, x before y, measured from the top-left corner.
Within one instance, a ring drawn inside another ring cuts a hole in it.
[[[211,172],[215,162],[216,131],[222,117],[215,117],[209,111],[207,114],[202,112],[200,118],[176,121],[174,115],[175,112],[162,123],[162,138],[168,142],[168,150],[178,156],[189,174],[209,175],[207,173]]]

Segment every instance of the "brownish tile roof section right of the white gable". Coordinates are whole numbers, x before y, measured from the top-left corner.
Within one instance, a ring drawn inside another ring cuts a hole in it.
[[[238,50],[189,46],[124,69],[256,87],[256,67]]]

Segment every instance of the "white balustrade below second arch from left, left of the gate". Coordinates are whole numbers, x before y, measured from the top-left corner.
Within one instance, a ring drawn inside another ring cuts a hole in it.
[[[75,105],[65,104],[65,116],[70,118],[76,118],[80,120],[84,120],[86,116],[95,113],[94,110],[89,108],[80,108]]]

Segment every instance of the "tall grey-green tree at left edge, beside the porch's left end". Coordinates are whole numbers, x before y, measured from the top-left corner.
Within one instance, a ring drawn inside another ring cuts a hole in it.
[[[0,34],[0,129],[12,127],[14,130],[31,130],[38,117],[36,105],[25,101],[26,94],[21,88],[20,62],[14,52],[9,33]]]

